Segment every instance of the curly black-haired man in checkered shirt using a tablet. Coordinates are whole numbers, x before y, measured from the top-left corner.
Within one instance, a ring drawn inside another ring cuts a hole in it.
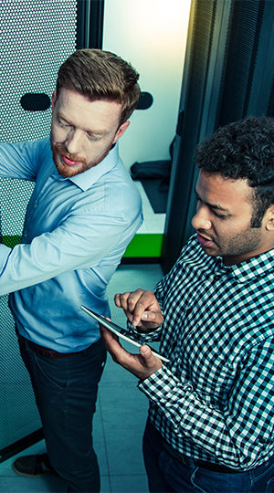
[[[140,339],[113,359],[149,399],[153,492],[274,490],[274,120],[249,117],[198,146],[196,234],[152,291],[117,294]],[[142,334],[140,333],[142,332]]]

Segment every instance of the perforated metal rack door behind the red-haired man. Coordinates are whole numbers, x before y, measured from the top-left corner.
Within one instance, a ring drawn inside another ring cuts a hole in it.
[[[76,48],[76,24],[77,0],[1,2],[2,142],[34,140],[48,134],[48,98],[55,89],[60,64]],[[1,236],[9,247],[21,236],[32,190],[31,183],[0,179]],[[7,298],[0,299],[0,461],[12,455],[13,444],[41,426]]]

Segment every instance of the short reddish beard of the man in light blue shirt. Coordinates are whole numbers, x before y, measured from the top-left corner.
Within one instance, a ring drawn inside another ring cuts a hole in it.
[[[111,144],[101,155],[100,159],[98,159],[96,162],[88,163],[85,158],[79,157],[77,154],[69,154],[69,152],[67,152],[66,149],[61,144],[58,143],[55,144],[54,142],[52,142],[51,138],[50,138],[50,145],[51,145],[53,161],[57,167],[58,173],[61,174],[61,176],[64,176],[65,178],[70,178],[72,176],[76,176],[79,173],[84,173],[85,171],[90,170],[90,168],[93,168],[94,166],[99,164],[111,151],[112,148],[112,144]],[[65,156],[69,160],[75,161],[79,164],[75,164],[74,166],[73,165],[69,166],[69,164],[63,162],[61,156]]]

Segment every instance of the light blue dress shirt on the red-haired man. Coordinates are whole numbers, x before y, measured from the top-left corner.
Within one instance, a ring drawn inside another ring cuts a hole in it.
[[[142,224],[142,202],[116,144],[94,168],[73,178],[58,174],[49,138],[2,143],[0,175],[36,182],[22,243],[0,245],[0,296],[19,332],[59,352],[98,341],[97,322],[80,309],[108,316],[106,288]]]

